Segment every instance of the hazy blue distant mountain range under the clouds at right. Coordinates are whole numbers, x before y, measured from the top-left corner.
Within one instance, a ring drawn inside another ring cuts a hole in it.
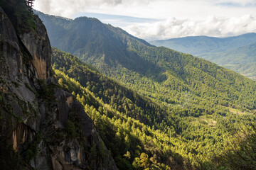
[[[189,53],[256,79],[256,33],[228,38],[206,36],[173,38],[152,41],[151,44]]]

